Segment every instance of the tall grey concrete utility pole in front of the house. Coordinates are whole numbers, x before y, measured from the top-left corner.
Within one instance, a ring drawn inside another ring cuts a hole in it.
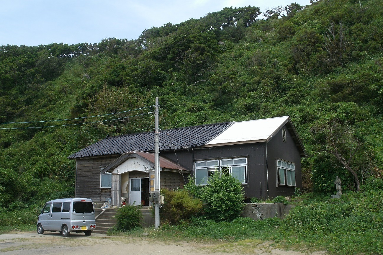
[[[155,118],[154,118],[154,191],[157,192],[158,201],[154,204],[154,226],[160,226],[160,148],[159,148],[159,128],[158,128],[158,97],[155,98]]]

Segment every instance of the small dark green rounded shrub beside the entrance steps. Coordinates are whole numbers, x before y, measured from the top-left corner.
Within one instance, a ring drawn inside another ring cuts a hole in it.
[[[140,206],[126,205],[118,209],[115,218],[117,219],[117,229],[128,231],[141,226],[142,212]]]

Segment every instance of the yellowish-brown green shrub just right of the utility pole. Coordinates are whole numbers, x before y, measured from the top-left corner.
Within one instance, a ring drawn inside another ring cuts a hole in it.
[[[196,216],[202,209],[202,201],[192,198],[186,190],[161,189],[161,193],[165,195],[160,211],[162,221],[178,224]]]

